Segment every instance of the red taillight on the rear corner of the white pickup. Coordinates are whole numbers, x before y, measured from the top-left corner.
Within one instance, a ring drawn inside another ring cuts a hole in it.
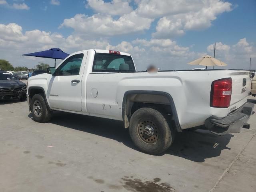
[[[232,79],[224,78],[212,82],[210,106],[228,108],[232,92]]]

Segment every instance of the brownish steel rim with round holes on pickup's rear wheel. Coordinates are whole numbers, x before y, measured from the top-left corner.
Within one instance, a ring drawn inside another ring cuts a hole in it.
[[[152,135],[148,135],[145,132],[149,126],[151,128],[153,128],[153,130],[154,130]],[[146,130],[145,130],[145,128],[146,128]],[[159,138],[158,127],[156,126],[156,123],[154,123],[152,120],[140,121],[140,123],[137,126],[137,134],[138,134],[138,138],[140,138],[140,140],[142,142],[144,142],[145,144],[148,144],[148,145],[152,145],[152,144],[156,143],[156,141]]]

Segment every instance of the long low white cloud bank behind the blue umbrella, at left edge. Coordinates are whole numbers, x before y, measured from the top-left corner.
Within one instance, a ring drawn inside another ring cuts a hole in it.
[[[53,64],[49,59],[32,60],[30,57],[21,56],[30,52],[57,47],[64,52],[72,53],[90,48],[105,49],[107,46],[109,43],[106,40],[86,40],[73,35],[64,38],[62,34],[40,30],[23,32],[18,24],[0,24],[0,58],[9,60],[14,66],[34,67],[37,62]]]

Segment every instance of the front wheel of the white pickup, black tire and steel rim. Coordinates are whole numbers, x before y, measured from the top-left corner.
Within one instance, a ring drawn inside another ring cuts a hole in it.
[[[52,118],[52,110],[48,108],[43,94],[35,94],[32,97],[31,112],[36,122],[45,123],[50,121]]]

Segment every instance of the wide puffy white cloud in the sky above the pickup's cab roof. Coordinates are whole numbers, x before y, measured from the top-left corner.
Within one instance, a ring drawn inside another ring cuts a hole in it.
[[[73,28],[76,34],[84,36],[114,36],[142,32],[150,28],[152,21],[152,19],[138,17],[134,11],[116,20],[102,14],[93,16],[76,14],[73,18],[65,19],[60,27]]]

